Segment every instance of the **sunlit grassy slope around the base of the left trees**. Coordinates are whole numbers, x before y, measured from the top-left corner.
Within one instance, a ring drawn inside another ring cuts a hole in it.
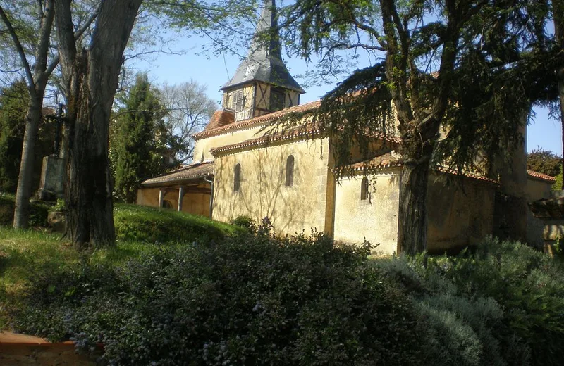
[[[6,195],[1,203],[9,202]],[[0,222],[0,329],[6,323],[5,306],[25,290],[39,272],[73,265],[81,260],[119,265],[129,258],[156,250],[154,243],[185,245],[193,241],[220,240],[244,229],[207,217],[172,210],[118,204],[114,208],[117,244],[114,248],[78,253],[68,239],[47,229],[18,231]]]

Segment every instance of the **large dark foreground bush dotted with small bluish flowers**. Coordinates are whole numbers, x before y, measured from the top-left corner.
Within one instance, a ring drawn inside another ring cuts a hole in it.
[[[417,364],[412,303],[367,263],[369,247],[277,239],[268,224],[121,269],[45,276],[19,327],[83,348],[102,341],[111,365]]]

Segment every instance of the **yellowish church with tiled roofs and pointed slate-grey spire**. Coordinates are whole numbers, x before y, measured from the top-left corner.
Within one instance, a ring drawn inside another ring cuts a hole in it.
[[[269,132],[300,104],[304,89],[282,61],[274,0],[266,0],[257,34],[235,75],[221,89],[223,108],[193,135],[193,163],[142,182],[137,204],[172,208],[227,222],[268,216],[278,234],[312,229],[338,241],[379,244],[398,252],[399,181],[402,159],[394,137],[375,139],[370,154],[353,152],[354,164],[336,166],[331,135],[314,127]],[[525,172],[525,168],[523,168]],[[547,196],[553,178],[529,175],[529,199]],[[527,173],[524,173],[527,176]],[[339,177],[339,178],[337,178]],[[428,246],[443,251],[473,244],[494,232],[498,182],[435,171],[429,177]]]

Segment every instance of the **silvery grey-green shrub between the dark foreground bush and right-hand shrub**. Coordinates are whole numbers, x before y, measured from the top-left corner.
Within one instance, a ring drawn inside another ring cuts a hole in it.
[[[410,294],[424,334],[424,365],[505,365],[496,338],[503,310],[491,298],[468,298],[424,256],[375,261]]]

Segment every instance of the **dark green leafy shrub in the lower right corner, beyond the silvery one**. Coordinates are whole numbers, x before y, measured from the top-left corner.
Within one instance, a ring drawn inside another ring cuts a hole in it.
[[[564,273],[529,246],[489,239],[476,253],[431,261],[469,298],[494,298],[503,308],[496,332],[505,360],[560,365],[564,344]]]

